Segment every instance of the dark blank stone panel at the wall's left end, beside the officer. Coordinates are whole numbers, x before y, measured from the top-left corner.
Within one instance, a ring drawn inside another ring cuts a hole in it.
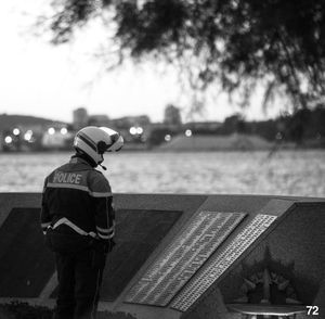
[[[38,208],[14,208],[0,227],[0,296],[38,297],[54,272]]]

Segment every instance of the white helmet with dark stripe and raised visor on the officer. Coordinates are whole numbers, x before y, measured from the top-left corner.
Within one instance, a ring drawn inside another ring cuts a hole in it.
[[[123,145],[123,138],[108,127],[87,126],[75,137],[74,148],[90,156],[95,164],[104,161],[105,152],[118,152]]]

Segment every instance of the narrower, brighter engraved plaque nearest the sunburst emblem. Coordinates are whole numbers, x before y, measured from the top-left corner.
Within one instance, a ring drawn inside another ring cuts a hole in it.
[[[222,251],[216,252],[171,303],[181,311],[192,304],[270,227],[276,216],[257,215]]]

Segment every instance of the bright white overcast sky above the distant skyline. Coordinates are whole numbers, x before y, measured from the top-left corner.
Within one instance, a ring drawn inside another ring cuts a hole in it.
[[[96,26],[82,33],[74,43],[53,47],[36,37],[32,23],[50,0],[3,1],[0,11],[0,114],[26,114],[65,122],[73,110],[84,106],[90,114],[112,118],[147,114],[160,122],[168,103],[188,105],[181,94],[173,69],[158,73],[152,64],[131,63],[113,73],[102,73],[102,61],[93,52],[105,37]],[[246,111],[248,119],[274,117],[278,107],[263,114],[261,98]],[[208,98],[206,112],[196,119],[223,120],[239,109],[225,94]]]

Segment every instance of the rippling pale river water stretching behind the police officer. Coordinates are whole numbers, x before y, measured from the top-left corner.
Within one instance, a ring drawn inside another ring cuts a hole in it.
[[[0,192],[40,192],[69,153],[0,154]],[[325,197],[325,151],[106,155],[113,192],[273,194]],[[100,168],[100,170],[102,170]]]

